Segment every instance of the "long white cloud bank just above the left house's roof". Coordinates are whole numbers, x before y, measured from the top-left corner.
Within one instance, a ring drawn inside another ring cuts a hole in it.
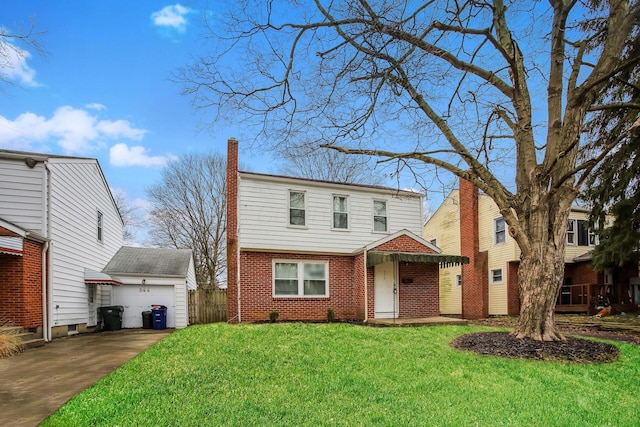
[[[15,120],[0,116],[0,147],[14,150],[55,151],[51,145],[57,144],[64,154],[87,155],[113,139],[140,141],[145,133],[126,120],[100,120],[68,105],[58,108],[51,118],[30,112]]]

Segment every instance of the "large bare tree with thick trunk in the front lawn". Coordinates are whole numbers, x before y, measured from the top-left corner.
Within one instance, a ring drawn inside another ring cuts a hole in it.
[[[304,135],[471,181],[520,248],[514,333],[562,339],[569,211],[622,141],[588,150],[583,131],[638,67],[624,55],[638,1],[244,0],[208,16],[212,54],[181,75],[196,106],[255,124],[271,147]]]

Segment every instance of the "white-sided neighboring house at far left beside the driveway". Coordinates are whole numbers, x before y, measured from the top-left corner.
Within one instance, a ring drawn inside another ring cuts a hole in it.
[[[86,272],[120,249],[123,227],[98,161],[0,150],[0,218],[46,240],[45,340],[96,326],[110,286],[85,282]]]

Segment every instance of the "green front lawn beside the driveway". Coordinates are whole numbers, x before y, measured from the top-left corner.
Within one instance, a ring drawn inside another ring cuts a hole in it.
[[[484,327],[192,326],[44,426],[638,425],[640,346],[570,365],[450,347]]]

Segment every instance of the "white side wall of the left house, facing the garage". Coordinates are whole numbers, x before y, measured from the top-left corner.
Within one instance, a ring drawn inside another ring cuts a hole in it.
[[[84,269],[100,271],[122,246],[122,221],[95,160],[50,159],[52,326],[87,322]],[[96,238],[103,214],[103,242]],[[56,308],[57,307],[57,308]]]

